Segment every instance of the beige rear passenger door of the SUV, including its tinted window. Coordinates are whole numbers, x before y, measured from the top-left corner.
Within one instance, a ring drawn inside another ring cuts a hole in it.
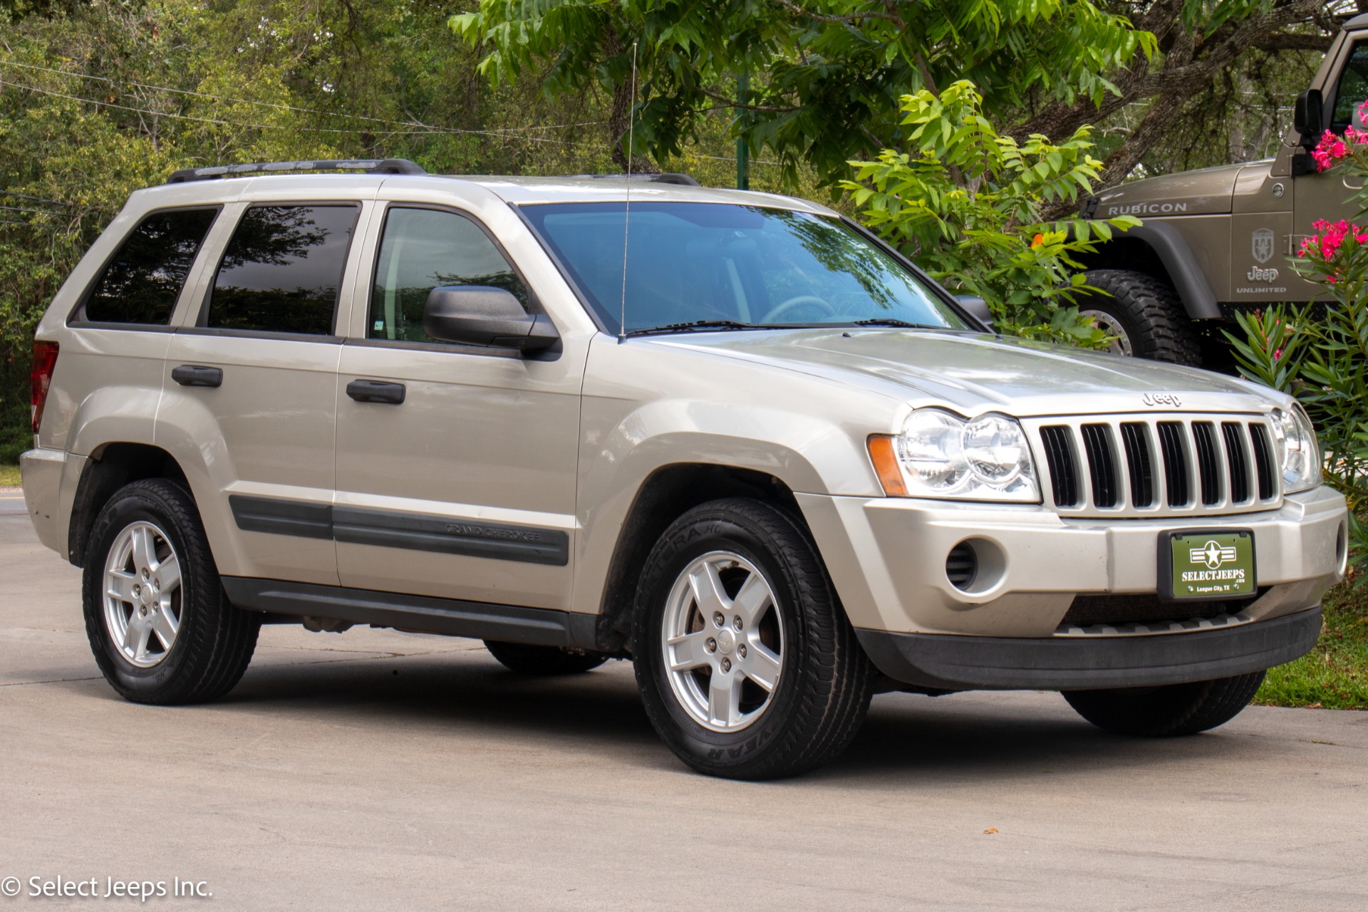
[[[335,585],[337,325],[363,204],[230,208],[202,304],[167,353],[159,443],[193,453],[192,485],[213,492],[200,505],[224,576]]]

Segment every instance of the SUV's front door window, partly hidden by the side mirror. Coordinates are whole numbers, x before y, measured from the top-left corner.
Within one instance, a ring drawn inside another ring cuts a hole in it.
[[[528,309],[527,287],[477,224],[454,212],[390,209],[380,238],[367,335],[434,342],[423,331],[423,308],[428,293],[443,284],[505,289]]]

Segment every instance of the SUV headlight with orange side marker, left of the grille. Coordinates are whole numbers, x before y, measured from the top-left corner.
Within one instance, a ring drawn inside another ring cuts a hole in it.
[[[1026,432],[1003,414],[917,409],[896,438],[870,438],[869,453],[891,496],[1040,503]]]

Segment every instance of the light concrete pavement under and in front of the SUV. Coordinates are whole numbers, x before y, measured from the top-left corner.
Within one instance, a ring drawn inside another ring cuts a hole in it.
[[[213,898],[0,912],[1368,908],[1368,714],[1131,741],[1051,693],[886,695],[840,762],[747,785],[676,763],[625,663],[531,681],[471,640],[268,628],[228,699],[133,706],[78,582],[0,515],[0,878]]]

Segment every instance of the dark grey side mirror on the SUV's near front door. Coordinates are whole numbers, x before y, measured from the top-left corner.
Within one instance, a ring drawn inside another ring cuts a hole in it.
[[[442,342],[539,351],[560,339],[551,321],[510,293],[486,284],[439,286],[423,308],[423,331]]]

